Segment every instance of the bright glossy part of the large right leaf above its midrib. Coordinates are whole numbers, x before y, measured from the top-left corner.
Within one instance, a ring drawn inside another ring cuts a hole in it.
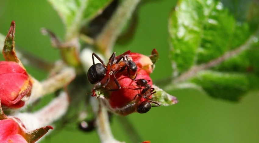
[[[221,2],[182,0],[172,12],[169,33],[175,71],[207,63],[249,38],[249,24],[237,23]]]

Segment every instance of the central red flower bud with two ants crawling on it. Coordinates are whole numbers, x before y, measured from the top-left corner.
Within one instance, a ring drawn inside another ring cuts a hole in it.
[[[118,59],[120,56],[117,56],[115,59]],[[137,79],[141,78],[148,80],[150,81],[148,82],[148,84],[152,87],[150,73],[152,72],[151,65],[153,65],[153,63],[150,58],[139,53],[129,53],[125,56],[128,56],[130,59],[132,59],[132,61],[137,65],[138,74],[136,81]],[[107,71],[105,78],[101,81],[101,85],[104,85],[107,81],[108,74],[109,71]],[[113,112],[126,116],[130,113],[135,112],[140,103],[146,101],[147,99],[136,96],[137,94],[141,93],[141,89],[137,89],[140,87],[137,86],[136,81],[133,81],[129,77],[127,69],[125,69],[123,72],[116,73],[115,77],[118,80],[122,89],[119,89],[117,91],[104,92],[106,98],[104,100],[104,103]],[[110,82],[108,82],[108,85],[105,87],[105,89],[102,90],[107,91],[110,89],[118,89],[118,86],[114,82],[113,76],[110,76]],[[151,96],[149,98],[151,98]]]

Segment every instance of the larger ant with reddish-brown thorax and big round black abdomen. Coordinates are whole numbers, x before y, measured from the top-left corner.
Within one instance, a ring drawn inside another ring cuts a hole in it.
[[[126,67],[127,67],[127,72],[129,74],[129,77],[130,78],[134,77],[131,79],[133,81],[135,81],[135,79],[137,77],[137,65],[133,61],[131,61],[128,56],[124,55],[128,52],[129,51],[126,51],[125,53],[123,53],[122,56],[120,56],[115,63],[114,63],[114,61],[115,61],[116,52],[113,52],[112,56],[109,58],[108,65],[105,65],[104,61],[97,54],[95,54],[95,53],[92,54],[93,65],[88,69],[88,72],[87,72],[88,81],[91,84],[98,83],[105,77],[106,73],[109,71],[108,78],[107,78],[107,81],[105,82],[105,84],[92,89],[93,91],[97,90],[97,89],[105,88],[106,85],[108,84],[108,82],[110,81],[111,75],[114,76],[114,82],[116,83],[118,88],[121,89],[121,86],[120,86],[117,78],[115,77],[115,75],[118,72],[124,71],[124,69]],[[94,57],[96,57],[101,63],[95,64]],[[127,60],[125,60],[125,57]],[[115,91],[115,90],[119,90],[119,89],[109,89],[108,91]]]

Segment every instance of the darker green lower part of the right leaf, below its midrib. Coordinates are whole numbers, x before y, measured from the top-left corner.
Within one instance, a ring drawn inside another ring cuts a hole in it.
[[[215,98],[237,101],[250,89],[246,74],[202,71],[190,80]]]

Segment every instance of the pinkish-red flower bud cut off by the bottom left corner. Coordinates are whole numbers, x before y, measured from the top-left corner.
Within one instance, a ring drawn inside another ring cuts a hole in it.
[[[28,143],[19,124],[12,119],[0,120],[0,141]]]

